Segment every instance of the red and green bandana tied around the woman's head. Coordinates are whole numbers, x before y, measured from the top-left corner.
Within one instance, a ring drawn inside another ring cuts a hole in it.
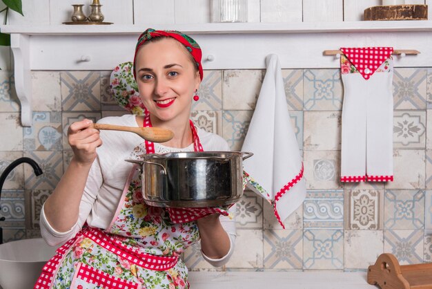
[[[183,44],[184,47],[186,47],[186,49],[192,55],[193,59],[195,59],[195,63],[197,64],[197,67],[199,70],[199,77],[201,77],[201,80],[202,80],[202,77],[203,77],[202,64],[201,64],[202,52],[201,52],[201,48],[199,47],[197,42],[195,42],[195,40],[192,39],[191,37],[189,37],[188,35],[183,34],[179,31],[155,30],[152,28],[148,28],[146,31],[144,31],[138,37],[137,47],[135,47],[135,56],[133,57],[133,67],[134,67],[133,68],[133,76],[135,77],[135,79],[137,78],[137,75],[135,74],[135,60],[137,59],[138,49],[144,43],[146,43],[146,41],[148,39],[152,39],[154,37],[160,37],[160,36],[172,37],[175,40],[179,41],[181,44]]]

